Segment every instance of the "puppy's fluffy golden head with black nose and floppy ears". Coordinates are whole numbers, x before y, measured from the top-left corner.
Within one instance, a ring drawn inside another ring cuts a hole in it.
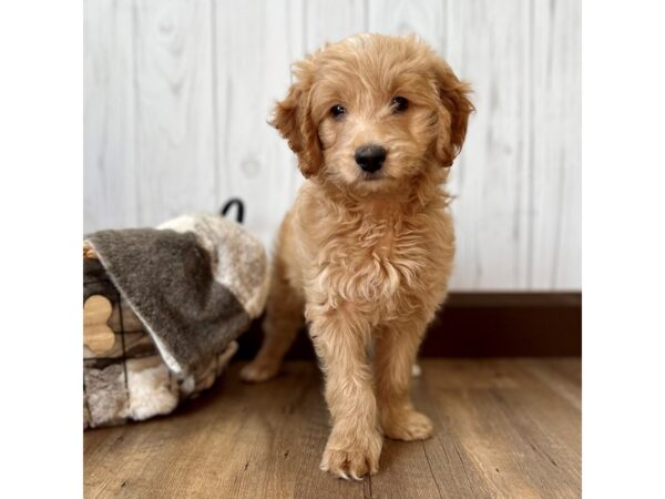
[[[413,38],[352,37],[298,62],[294,73],[273,124],[305,176],[381,191],[450,166],[462,146],[469,88]]]

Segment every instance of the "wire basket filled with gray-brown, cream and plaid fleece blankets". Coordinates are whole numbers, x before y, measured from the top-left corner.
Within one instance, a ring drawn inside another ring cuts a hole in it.
[[[209,387],[265,305],[264,247],[222,216],[100,231],[85,245],[84,304],[109,299],[116,339],[84,347],[84,427],[167,414]]]

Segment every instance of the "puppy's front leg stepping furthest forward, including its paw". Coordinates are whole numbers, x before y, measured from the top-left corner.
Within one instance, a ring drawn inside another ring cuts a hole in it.
[[[376,473],[383,437],[366,353],[369,325],[348,313],[329,310],[313,319],[310,335],[326,377],[332,419],[321,469],[357,480]]]

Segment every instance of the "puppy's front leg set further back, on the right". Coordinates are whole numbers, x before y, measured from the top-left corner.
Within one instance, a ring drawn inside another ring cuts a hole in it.
[[[422,440],[432,435],[430,419],[413,408],[409,395],[411,373],[426,320],[391,324],[375,344],[375,378],[383,432],[397,440]]]

